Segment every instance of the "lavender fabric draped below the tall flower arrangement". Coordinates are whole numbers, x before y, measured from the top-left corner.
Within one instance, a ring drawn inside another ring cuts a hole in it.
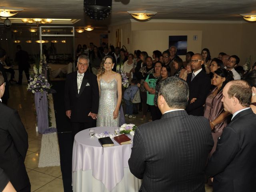
[[[35,93],[35,106],[38,132],[43,134],[49,128],[48,124],[48,100],[46,91]]]

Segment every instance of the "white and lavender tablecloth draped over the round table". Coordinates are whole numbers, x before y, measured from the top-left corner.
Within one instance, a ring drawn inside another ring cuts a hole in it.
[[[95,132],[114,133],[114,127],[96,127]],[[132,136],[128,135],[131,139]],[[137,192],[141,181],[129,170],[128,159],[132,144],[102,148],[98,138],[90,138],[89,130],[76,134],[72,157],[74,192]]]

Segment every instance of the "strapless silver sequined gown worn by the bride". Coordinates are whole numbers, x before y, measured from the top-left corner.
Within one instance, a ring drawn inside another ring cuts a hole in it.
[[[115,126],[119,127],[120,114],[113,118],[113,112],[117,103],[117,82],[115,79],[106,82],[100,79],[100,104],[97,116],[97,127]]]

